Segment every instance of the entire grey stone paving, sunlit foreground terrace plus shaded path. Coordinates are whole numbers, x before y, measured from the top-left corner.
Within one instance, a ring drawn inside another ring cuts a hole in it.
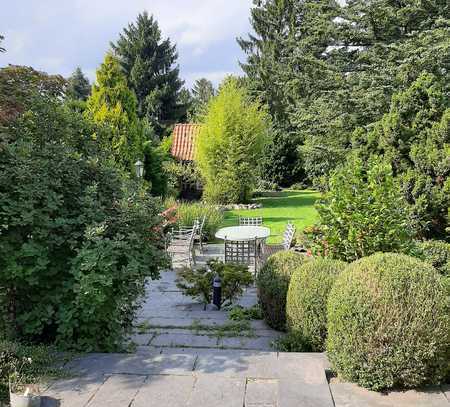
[[[216,256],[219,247],[210,246],[199,263]],[[279,334],[262,321],[230,329],[227,312],[203,311],[181,294],[175,272],[161,277],[148,284],[130,338],[135,352],[76,359],[77,376],[51,385],[42,407],[450,406],[448,388],[381,395],[329,383],[324,354],[276,352],[270,345]],[[255,289],[240,303],[255,304]]]

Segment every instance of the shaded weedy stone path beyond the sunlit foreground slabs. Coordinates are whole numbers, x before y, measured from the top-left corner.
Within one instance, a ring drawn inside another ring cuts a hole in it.
[[[212,258],[222,258],[222,247],[209,245],[203,256],[197,256],[197,266],[205,265]],[[219,311],[212,305],[204,310],[203,304],[183,296],[175,279],[175,271],[165,271],[160,280],[149,282],[131,337],[133,343],[150,348],[273,350],[272,342],[280,333],[264,321],[233,322],[228,318],[228,311]],[[256,288],[248,288],[238,304],[244,307],[257,304]]]

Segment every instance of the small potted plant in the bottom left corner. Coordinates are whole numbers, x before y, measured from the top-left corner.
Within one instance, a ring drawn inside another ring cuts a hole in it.
[[[9,376],[9,399],[11,407],[40,407],[41,396],[35,384],[27,383],[24,367],[31,364],[31,358],[22,358],[15,365],[14,372]]]

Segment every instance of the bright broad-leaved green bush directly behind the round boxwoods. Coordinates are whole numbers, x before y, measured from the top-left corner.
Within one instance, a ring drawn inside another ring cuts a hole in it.
[[[333,173],[316,204],[321,251],[352,261],[376,252],[409,253],[414,228],[410,208],[390,164],[372,157],[349,160]]]

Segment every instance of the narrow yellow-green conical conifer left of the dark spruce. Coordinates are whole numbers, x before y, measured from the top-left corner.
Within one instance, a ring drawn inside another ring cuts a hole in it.
[[[136,96],[127,86],[118,59],[107,53],[97,70],[86,114],[107,127],[109,131],[104,133],[108,137],[100,143],[128,171],[133,171],[133,164],[142,159],[144,136],[136,108]]]

